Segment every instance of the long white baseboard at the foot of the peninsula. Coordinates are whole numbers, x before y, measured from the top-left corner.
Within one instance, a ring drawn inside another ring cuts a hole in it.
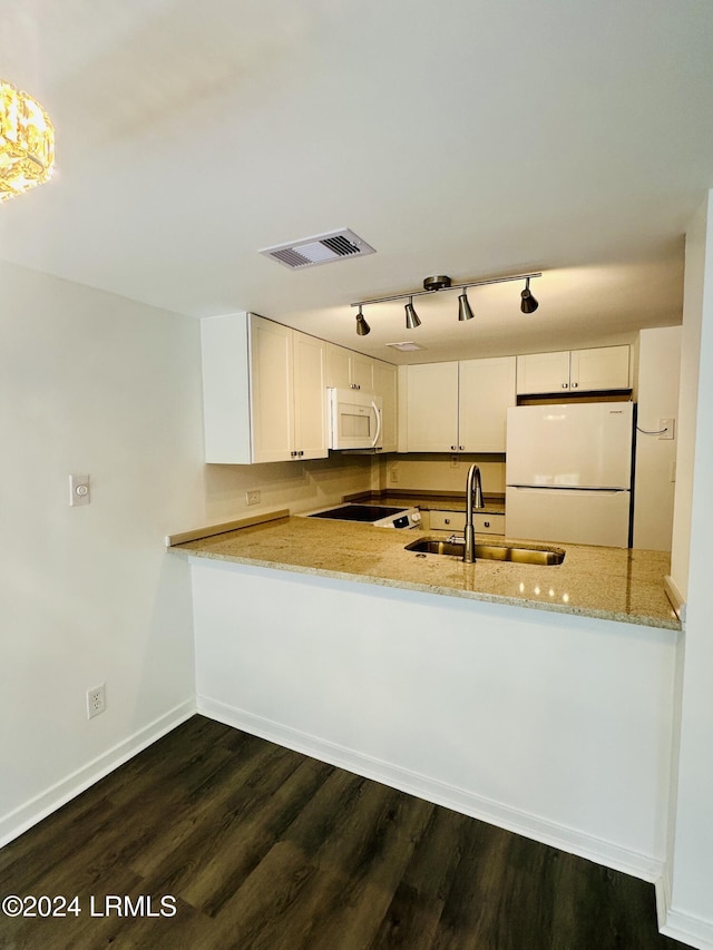
[[[197,712],[216,722],[243,729],[251,735],[268,740],[285,748],[291,748],[330,765],[336,765],[348,772],[372,778],[407,794],[416,795],[437,805],[443,805],[469,817],[486,821],[543,844],[549,844],[569,854],[586,858],[625,874],[632,874],[651,882],[655,882],[662,876],[663,863],[655,858],[629,851],[576,829],[556,824],[537,815],[458,789],[455,785],[448,785],[417,772],[392,765],[389,762],[373,758],[318,736],[265,719],[262,716],[255,716],[244,709],[227,706],[207,696],[197,697]]]

